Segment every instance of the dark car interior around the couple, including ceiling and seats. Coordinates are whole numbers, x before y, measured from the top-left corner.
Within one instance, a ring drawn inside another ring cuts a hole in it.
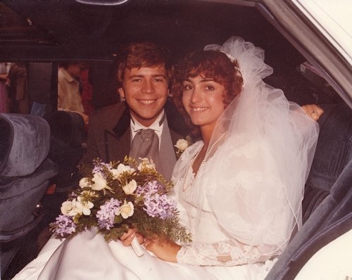
[[[271,2],[0,1],[0,62],[15,65],[13,79],[8,72],[8,110],[0,112],[1,279],[37,256],[51,236],[49,223],[77,185],[87,127],[77,113],[57,110],[58,65],[89,65],[89,103],[96,111],[120,101],[113,60],[130,42],[168,47],[177,67],[189,51],[242,37],[265,50],[274,72],[264,82],[289,101],[325,111],[302,202],[303,227],[266,279],[294,279],[321,246],[352,228],[352,65],[292,1]]]

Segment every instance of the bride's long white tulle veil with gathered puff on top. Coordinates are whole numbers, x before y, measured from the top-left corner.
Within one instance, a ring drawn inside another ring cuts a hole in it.
[[[199,205],[209,205],[233,246],[259,251],[261,257],[244,263],[263,262],[280,255],[292,232],[301,227],[303,188],[318,124],[289,103],[281,90],[262,81],[272,73],[262,49],[231,37],[223,46],[205,50],[220,50],[237,59],[244,89],[220,116],[209,144],[213,148],[191,187],[204,189]],[[181,157],[175,166],[176,184],[183,182],[189,168],[186,152],[186,160]],[[180,195],[182,189],[176,191]],[[202,207],[194,213],[195,240],[204,231],[206,213]]]

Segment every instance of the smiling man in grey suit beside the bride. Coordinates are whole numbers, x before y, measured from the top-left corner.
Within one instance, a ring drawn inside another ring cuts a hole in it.
[[[122,163],[125,155],[139,158],[142,144],[136,136],[152,129],[156,139],[152,158],[158,162],[159,173],[170,179],[177,160],[174,145],[189,134],[168,97],[173,74],[170,51],[148,42],[128,44],[118,54],[116,72],[118,92],[125,101],[92,115],[84,162],[99,157],[104,163]]]

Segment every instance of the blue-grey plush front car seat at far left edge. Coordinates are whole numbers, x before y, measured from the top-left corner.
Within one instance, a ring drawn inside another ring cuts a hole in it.
[[[38,204],[58,168],[49,158],[50,128],[33,115],[0,114],[1,276],[44,213]]]

